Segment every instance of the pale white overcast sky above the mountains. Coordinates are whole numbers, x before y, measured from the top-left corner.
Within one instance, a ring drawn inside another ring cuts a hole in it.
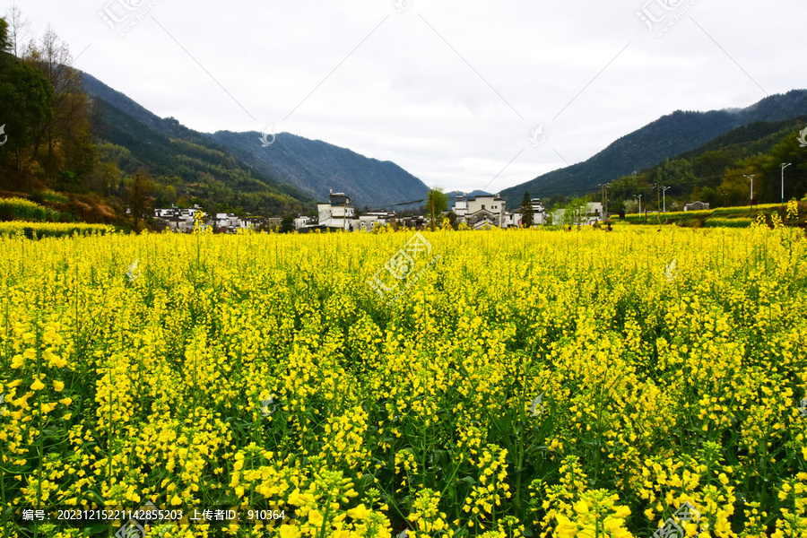
[[[77,68],[158,116],[273,126],[452,190],[585,161],[676,109],[807,87],[803,0],[17,5],[34,36],[50,23]]]

